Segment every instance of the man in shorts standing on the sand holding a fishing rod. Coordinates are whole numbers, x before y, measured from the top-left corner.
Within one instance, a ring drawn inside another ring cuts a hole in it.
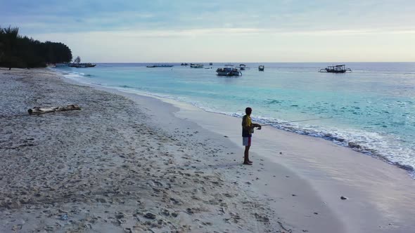
[[[242,118],[242,145],[245,146],[245,153],[243,157],[243,164],[245,165],[252,165],[253,162],[249,160],[249,148],[250,148],[250,141],[252,138],[252,133],[254,128],[257,127],[261,129],[260,124],[252,123],[250,119],[250,114],[252,113],[253,109],[247,107],[245,109],[245,116]]]

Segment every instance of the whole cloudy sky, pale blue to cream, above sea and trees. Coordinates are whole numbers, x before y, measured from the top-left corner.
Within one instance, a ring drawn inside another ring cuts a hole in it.
[[[414,0],[0,0],[84,62],[415,62]]]

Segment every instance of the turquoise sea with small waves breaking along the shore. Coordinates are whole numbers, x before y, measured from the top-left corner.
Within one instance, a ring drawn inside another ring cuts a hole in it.
[[[414,62],[349,62],[353,72],[346,74],[317,72],[331,63],[262,63],[264,72],[260,64],[247,63],[250,69],[239,77],[216,76],[219,63],[205,64],[212,69],[146,65],[58,70],[87,84],[173,98],[231,116],[242,116],[250,106],[256,121],[325,138],[414,172]],[[324,119],[302,121],[317,118]]]

